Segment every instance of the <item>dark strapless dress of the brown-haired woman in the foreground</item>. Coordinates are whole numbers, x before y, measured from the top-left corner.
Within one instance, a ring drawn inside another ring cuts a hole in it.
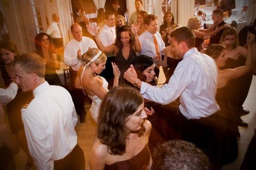
[[[148,170],[150,153],[146,145],[136,156],[125,161],[105,165],[105,170]]]

